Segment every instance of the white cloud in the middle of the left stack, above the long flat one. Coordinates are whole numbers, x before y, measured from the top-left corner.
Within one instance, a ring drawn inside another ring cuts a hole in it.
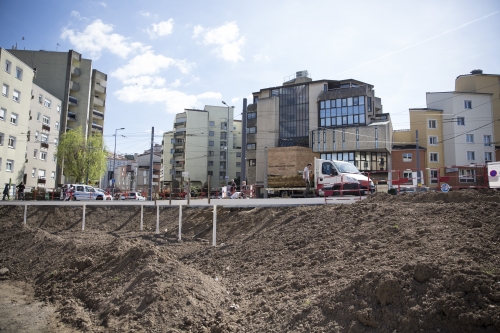
[[[128,64],[112,72],[111,76],[125,82],[135,77],[158,74],[161,70],[171,66],[177,67],[181,73],[188,73],[195,64],[188,63],[186,60],[168,58],[161,54],[156,55],[153,51],[148,51],[131,59]]]

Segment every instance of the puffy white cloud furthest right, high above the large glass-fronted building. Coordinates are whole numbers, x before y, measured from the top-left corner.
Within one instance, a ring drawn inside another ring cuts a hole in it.
[[[212,49],[219,58],[227,61],[244,60],[241,47],[245,44],[245,36],[239,37],[240,31],[236,22],[228,22],[217,28],[205,29],[201,25],[193,28],[193,38],[202,37],[205,45],[215,45]]]

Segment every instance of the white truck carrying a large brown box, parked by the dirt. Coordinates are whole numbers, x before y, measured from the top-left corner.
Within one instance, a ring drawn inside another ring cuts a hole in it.
[[[318,158],[310,148],[279,147],[268,149],[268,196],[304,197],[303,171],[312,163],[311,191],[316,196],[366,195],[373,192],[373,181],[352,163]]]

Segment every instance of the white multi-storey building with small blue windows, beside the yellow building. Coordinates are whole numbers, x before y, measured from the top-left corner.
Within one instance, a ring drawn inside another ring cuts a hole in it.
[[[495,160],[495,138],[489,93],[431,92],[427,107],[443,110],[444,156],[431,152],[429,162],[444,158],[447,166],[476,166]]]

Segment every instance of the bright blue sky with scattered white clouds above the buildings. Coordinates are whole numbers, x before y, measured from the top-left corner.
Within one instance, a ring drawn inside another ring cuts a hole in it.
[[[0,6],[0,46],[68,51],[108,74],[104,136],[142,153],[176,113],[235,106],[297,71],[375,86],[394,129],[425,93],[473,69],[500,74],[500,1],[16,0]],[[22,8],[23,10],[19,10]],[[24,37],[24,40],[23,40]]]

